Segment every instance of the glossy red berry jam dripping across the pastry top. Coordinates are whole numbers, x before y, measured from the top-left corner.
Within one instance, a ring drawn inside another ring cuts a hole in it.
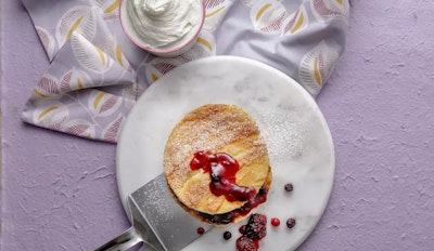
[[[256,195],[254,188],[237,185],[235,174],[240,170],[240,166],[228,154],[197,151],[190,162],[190,168],[192,170],[203,169],[208,172],[212,180],[210,191],[215,196],[224,195],[228,201],[246,201]]]

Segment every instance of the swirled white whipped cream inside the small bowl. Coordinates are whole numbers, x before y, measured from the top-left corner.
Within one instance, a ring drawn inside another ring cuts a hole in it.
[[[151,49],[181,45],[202,23],[200,0],[130,0],[127,3],[138,39]]]

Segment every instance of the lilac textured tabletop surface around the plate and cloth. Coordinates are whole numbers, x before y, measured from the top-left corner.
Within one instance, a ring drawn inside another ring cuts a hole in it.
[[[318,98],[336,175],[298,250],[433,250],[434,1],[352,0],[346,52]],[[20,1],[2,1],[2,250],[92,250],[129,226],[115,145],[24,124],[48,67]]]

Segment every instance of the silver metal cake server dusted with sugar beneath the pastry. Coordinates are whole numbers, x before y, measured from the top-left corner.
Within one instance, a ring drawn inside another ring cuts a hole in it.
[[[145,250],[178,251],[200,237],[199,227],[205,232],[212,228],[174,200],[164,173],[133,191],[127,200],[132,226],[97,251],[128,250],[140,242]]]

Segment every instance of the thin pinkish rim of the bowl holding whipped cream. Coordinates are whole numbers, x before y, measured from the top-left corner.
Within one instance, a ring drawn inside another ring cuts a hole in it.
[[[174,53],[174,52],[180,51],[180,50],[189,47],[192,41],[197,39],[199,35],[202,31],[202,27],[203,27],[203,25],[205,23],[205,14],[206,14],[205,13],[205,4],[204,4],[203,0],[199,0],[199,2],[202,5],[201,24],[199,25],[199,27],[197,27],[196,31],[194,32],[194,35],[189,40],[187,40],[186,42],[183,42],[183,43],[181,43],[181,44],[179,44],[179,45],[177,45],[175,48],[169,48],[169,49],[157,49],[157,48],[145,47],[142,43],[140,43],[140,41],[135,39],[135,37],[130,34],[130,31],[128,30],[128,28],[126,27],[126,25],[124,23],[124,22],[130,22],[130,19],[128,18],[128,15],[127,14],[126,15],[123,14],[123,6],[124,6],[125,2],[127,2],[127,1],[130,1],[130,0],[120,0],[120,3],[119,3],[119,23],[120,23],[120,27],[124,30],[124,34],[127,36],[127,38],[132,43],[135,43],[137,47],[139,47],[139,48],[141,48],[141,49],[143,49],[143,50],[145,50],[145,51],[148,51],[150,53],[169,54],[169,53]]]

